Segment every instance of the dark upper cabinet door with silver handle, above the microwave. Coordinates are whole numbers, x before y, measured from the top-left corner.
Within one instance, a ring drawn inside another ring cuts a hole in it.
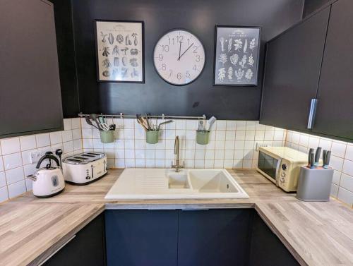
[[[329,13],[330,8],[325,8],[268,42],[261,123],[309,131]]]

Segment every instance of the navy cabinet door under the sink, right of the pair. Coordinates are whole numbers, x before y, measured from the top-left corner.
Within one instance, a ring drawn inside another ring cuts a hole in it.
[[[246,265],[252,210],[179,212],[179,266]]]

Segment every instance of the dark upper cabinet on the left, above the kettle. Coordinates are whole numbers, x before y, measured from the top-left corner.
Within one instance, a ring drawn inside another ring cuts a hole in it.
[[[63,128],[53,5],[0,3],[0,138]]]

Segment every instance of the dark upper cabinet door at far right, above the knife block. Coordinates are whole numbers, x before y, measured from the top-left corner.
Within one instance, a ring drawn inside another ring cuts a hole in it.
[[[313,132],[353,140],[353,1],[332,5]]]

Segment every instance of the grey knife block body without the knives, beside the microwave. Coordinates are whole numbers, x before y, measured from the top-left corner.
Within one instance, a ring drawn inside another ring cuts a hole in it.
[[[301,167],[297,199],[304,201],[329,201],[333,169]]]

